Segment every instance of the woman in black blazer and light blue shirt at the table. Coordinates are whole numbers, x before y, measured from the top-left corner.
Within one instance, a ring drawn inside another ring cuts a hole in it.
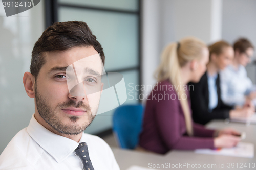
[[[207,71],[198,83],[189,83],[193,119],[205,125],[212,119],[248,117],[253,113],[251,104],[243,108],[234,108],[221,100],[219,71],[225,69],[232,61],[234,51],[226,41],[218,41],[209,46],[210,61]]]

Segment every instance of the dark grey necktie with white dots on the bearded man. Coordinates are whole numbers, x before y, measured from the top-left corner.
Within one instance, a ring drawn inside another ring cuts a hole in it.
[[[82,164],[83,164],[83,169],[94,170],[92,162],[89,157],[88,147],[85,142],[79,143],[78,147],[76,148],[76,150],[74,152],[81,159]]]

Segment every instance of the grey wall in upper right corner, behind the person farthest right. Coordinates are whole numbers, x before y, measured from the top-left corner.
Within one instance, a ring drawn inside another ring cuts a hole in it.
[[[256,1],[223,0],[222,37],[233,43],[239,37],[248,38],[256,47]],[[254,54],[255,56],[255,54]],[[256,67],[249,64],[248,76],[256,84]]]

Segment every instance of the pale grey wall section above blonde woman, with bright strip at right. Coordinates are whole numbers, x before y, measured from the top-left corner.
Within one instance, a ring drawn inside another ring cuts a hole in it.
[[[221,39],[222,0],[164,0],[161,5],[161,47],[186,36],[206,43]]]

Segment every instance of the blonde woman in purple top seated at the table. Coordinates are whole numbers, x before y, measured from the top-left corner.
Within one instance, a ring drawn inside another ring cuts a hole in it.
[[[172,149],[233,147],[239,142],[237,131],[208,130],[191,119],[187,83],[200,80],[208,60],[207,46],[194,37],[164,49],[156,70],[158,83],[146,101],[139,150],[164,154]]]

